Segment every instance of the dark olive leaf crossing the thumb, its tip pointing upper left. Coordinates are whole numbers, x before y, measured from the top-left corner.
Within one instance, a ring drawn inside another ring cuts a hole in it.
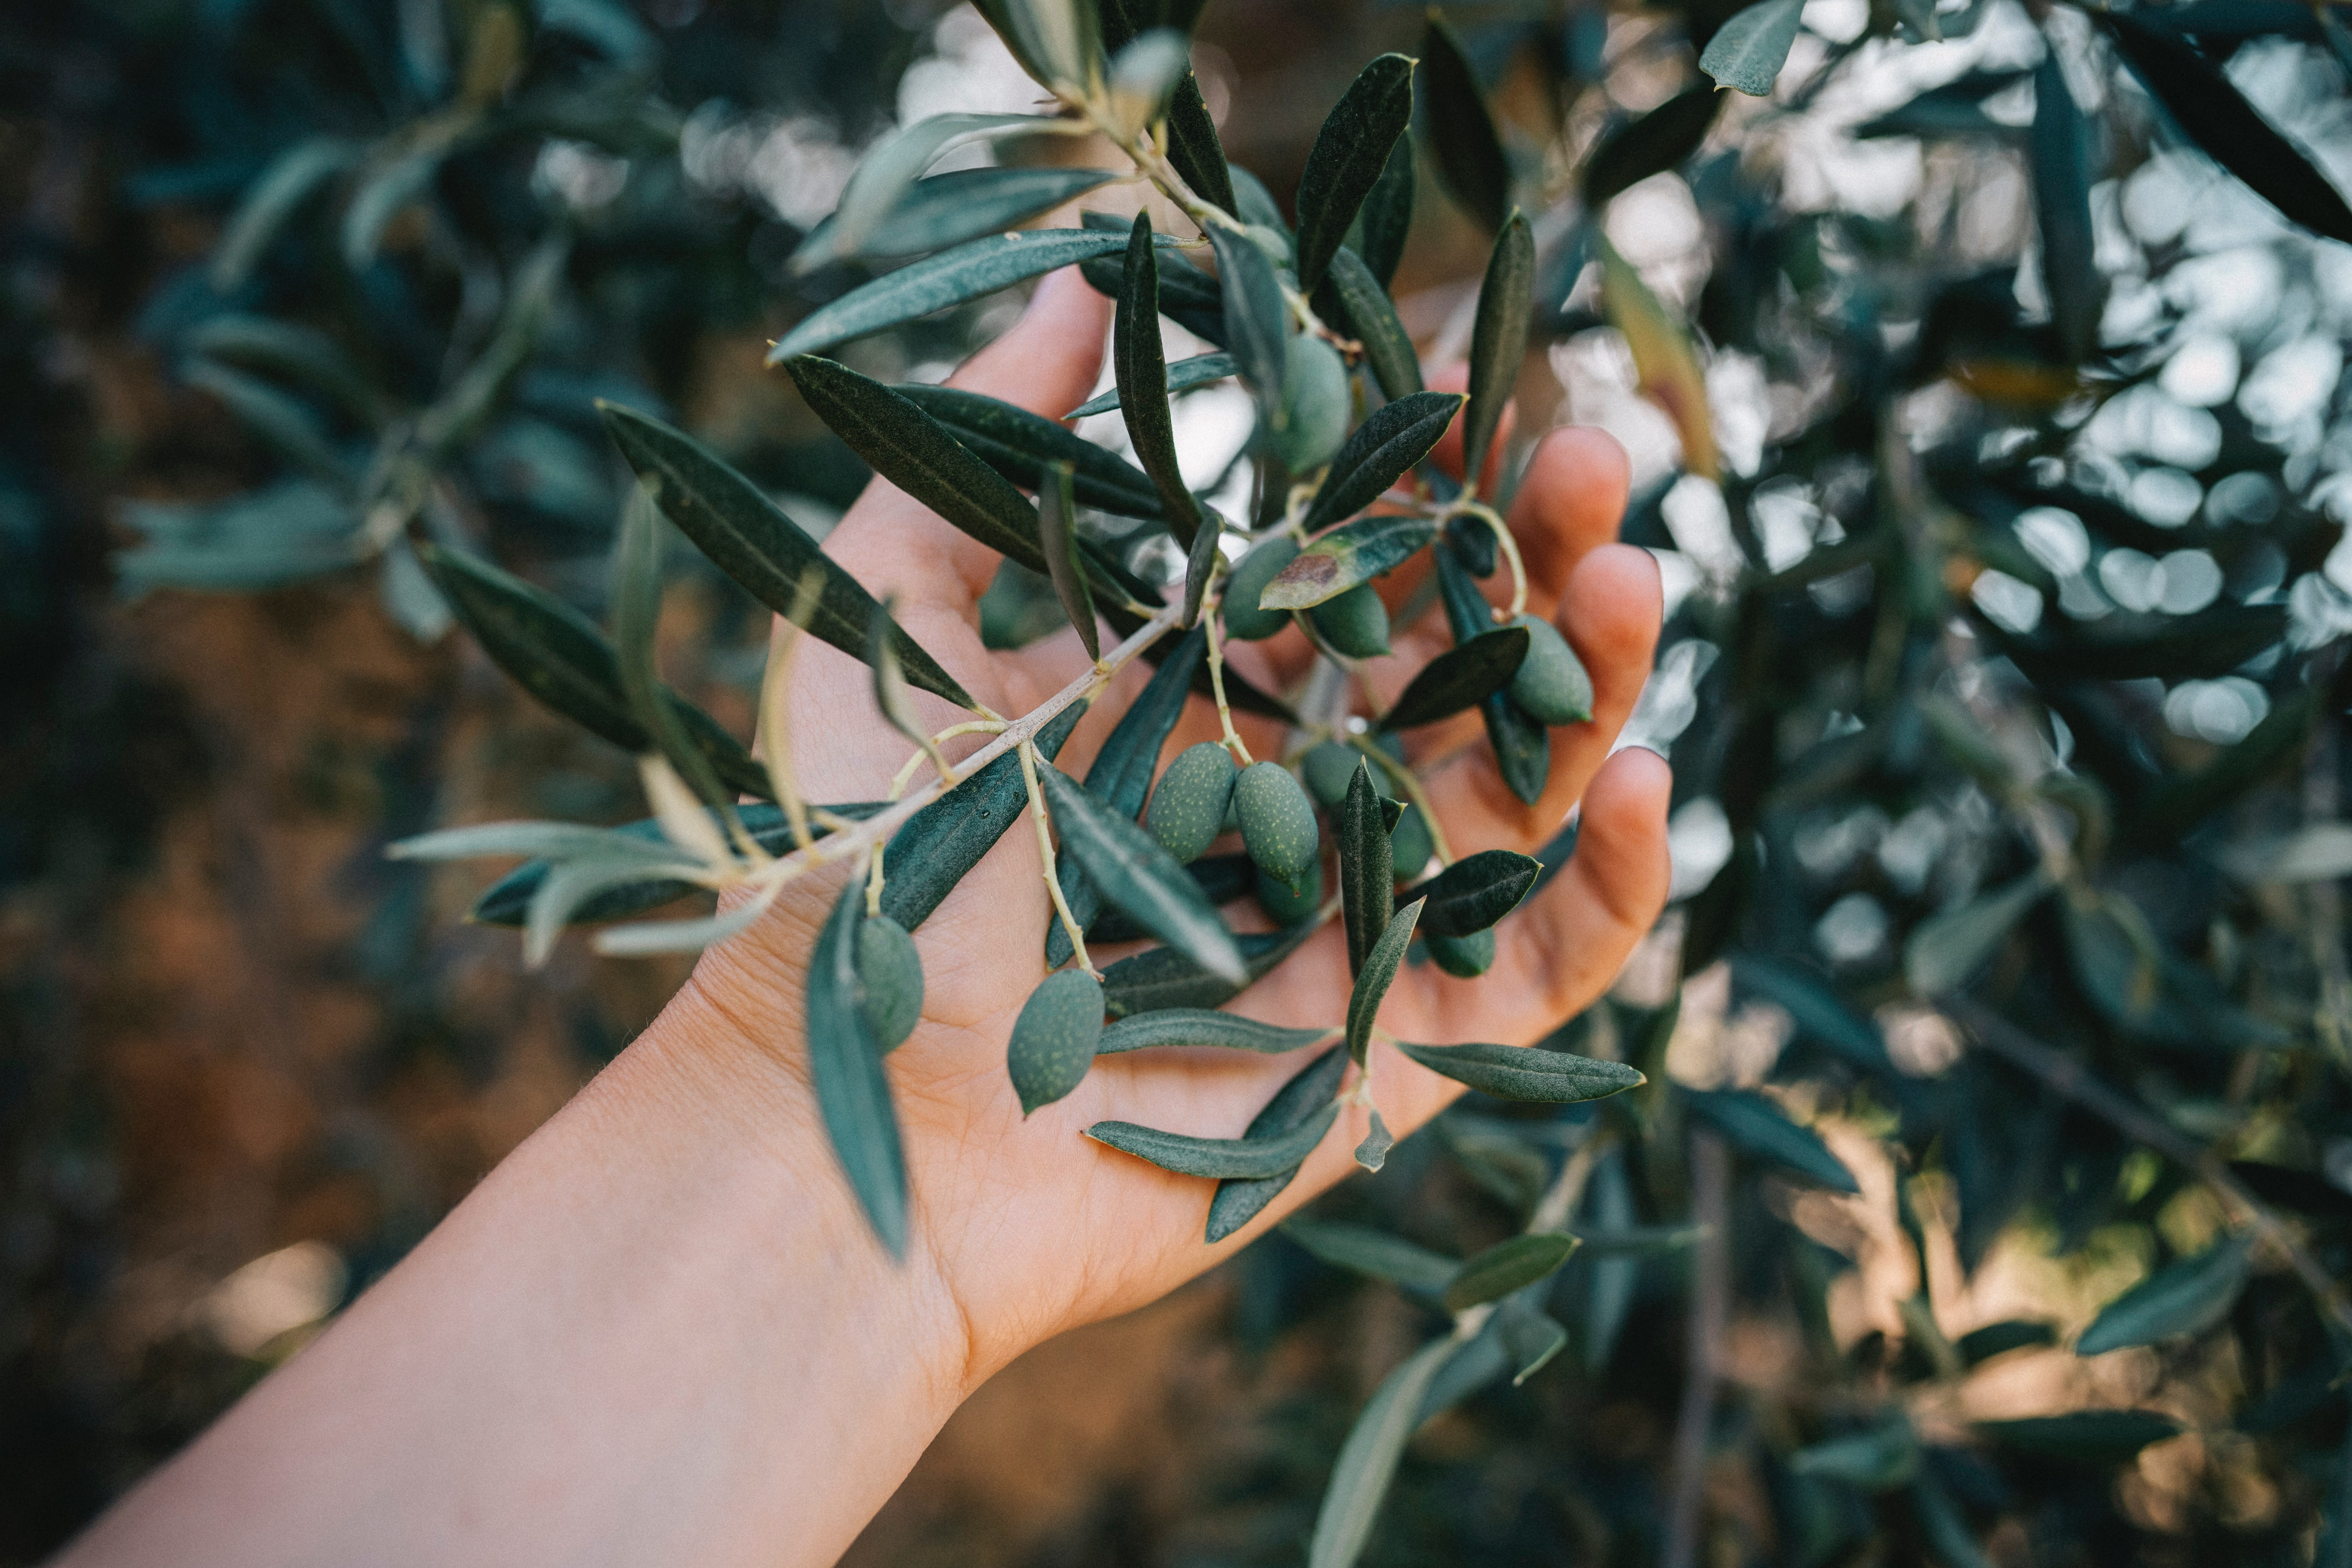
[[[997,555],[1044,576],[1037,512],[913,400],[833,360],[786,367],[809,409],[866,463]]]

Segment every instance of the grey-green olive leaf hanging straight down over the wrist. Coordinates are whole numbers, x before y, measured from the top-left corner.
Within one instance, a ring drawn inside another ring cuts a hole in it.
[[[898,1114],[882,1074],[882,1051],[866,1023],[858,983],[863,919],[866,884],[851,877],[833,900],[833,914],[809,954],[809,1084],[866,1222],[891,1258],[903,1258],[906,1154],[898,1147]]]

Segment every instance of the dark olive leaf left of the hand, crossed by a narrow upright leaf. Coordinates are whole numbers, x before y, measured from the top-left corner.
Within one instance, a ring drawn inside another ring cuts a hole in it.
[[[654,748],[630,712],[621,661],[588,616],[485,559],[433,543],[416,557],[492,663],[550,710],[628,752]],[[708,712],[663,689],[680,729],[720,783],[764,797],[767,769]]]

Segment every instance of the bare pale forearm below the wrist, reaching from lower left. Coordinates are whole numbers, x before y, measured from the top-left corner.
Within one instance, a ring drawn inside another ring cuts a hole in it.
[[[964,1349],[727,1034],[689,987],[64,1563],[830,1563]]]

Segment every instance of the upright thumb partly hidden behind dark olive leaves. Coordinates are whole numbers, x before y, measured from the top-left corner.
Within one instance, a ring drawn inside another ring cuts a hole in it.
[[[1061,414],[1094,390],[1108,317],[1110,301],[1077,268],[1049,273],[1014,329],[964,362],[948,386],[1002,397],[1033,414]],[[826,538],[826,555],[849,567],[875,597],[896,592],[913,607],[950,611],[967,625],[1002,559],[884,480],[866,487]],[[908,625],[908,632],[915,628]],[[920,632],[915,637],[922,639]]]

